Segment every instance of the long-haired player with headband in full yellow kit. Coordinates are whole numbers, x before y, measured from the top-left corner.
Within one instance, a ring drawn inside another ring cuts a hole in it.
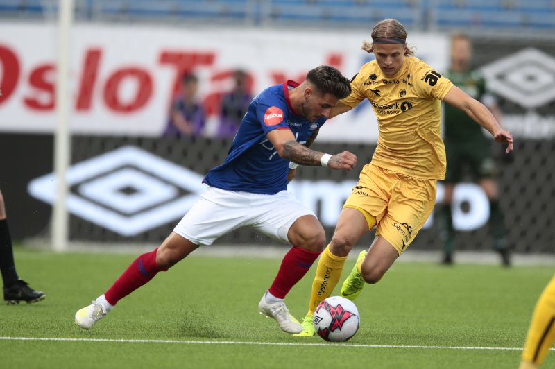
[[[513,137],[490,111],[434,68],[413,56],[407,31],[396,19],[379,22],[373,42],[362,49],[376,60],[352,78],[351,94],[332,108],[331,117],[368,99],[377,116],[379,137],[372,161],[345,202],[332,241],[325,248],[312,284],[308,313],[298,336],[313,336],[312,316],[339,281],[352,246],[374,227],[376,237],[343,282],[341,295],[353,300],[366,283],[376,283],[411,244],[436,200],[436,182],[445,176],[440,135],[441,101],[466,112],[495,141],[513,150]]]

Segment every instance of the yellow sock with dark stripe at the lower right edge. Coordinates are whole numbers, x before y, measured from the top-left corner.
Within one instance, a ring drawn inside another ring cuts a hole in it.
[[[555,277],[547,284],[536,303],[528,329],[522,368],[540,366],[555,338]],[[532,366],[527,366],[531,364]],[[523,366],[524,365],[524,366]]]

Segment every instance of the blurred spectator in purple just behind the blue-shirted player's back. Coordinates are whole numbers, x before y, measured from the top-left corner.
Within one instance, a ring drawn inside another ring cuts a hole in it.
[[[253,100],[248,88],[248,74],[238,69],[234,73],[235,86],[221,98],[220,123],[216,136],[234,137],[239,123]]]

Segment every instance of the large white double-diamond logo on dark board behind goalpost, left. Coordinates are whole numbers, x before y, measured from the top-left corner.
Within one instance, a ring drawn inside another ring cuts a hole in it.
[[[135,146],[123,146],[71,166],[71,214],[124,236],[181,218],[204,191],[203,176]],[[35,178],[29,193],[56,201],[56,175]]]

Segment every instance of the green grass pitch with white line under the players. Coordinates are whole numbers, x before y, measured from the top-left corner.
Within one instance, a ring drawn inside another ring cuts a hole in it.
[[[74,324],[75,311],[135,255],[18,249],[15,257],[19,274],[47,298],[0,306],[1,368],[517,368],[520,350],[503,349],[522,347],[554,273],[549,266],[398,263],[355,300],[357,335],[330,345],[284,334],[258,314],[280,259],[191,255],[85,331]],[[286,299],[298,318],[314,271]],[[554,354],[543,368],[555,368]]]

